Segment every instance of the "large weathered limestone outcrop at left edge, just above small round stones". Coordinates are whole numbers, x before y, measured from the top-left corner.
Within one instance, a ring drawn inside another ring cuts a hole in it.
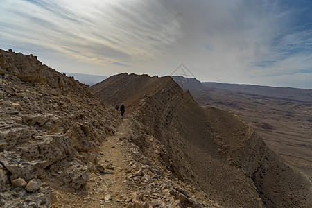
[[[74,155],[71,141],[62,135],[37,137],[39,141],[29,141],[15,151],[3,151],[0,161],[12,173],[11,180],[19,177],[31,180],[41,174],[46,166],[66,157]]]

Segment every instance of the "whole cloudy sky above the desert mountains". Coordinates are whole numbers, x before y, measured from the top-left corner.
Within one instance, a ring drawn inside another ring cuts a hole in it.
[[[311,10],[312,0],[1,0],[0,49],[65,73],[312,89]]]

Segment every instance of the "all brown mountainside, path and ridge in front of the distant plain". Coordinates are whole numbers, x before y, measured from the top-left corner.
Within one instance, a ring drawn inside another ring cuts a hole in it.
[[[171,77],[92,90],[0,50],[1,207],[311,207],[308,177]]]

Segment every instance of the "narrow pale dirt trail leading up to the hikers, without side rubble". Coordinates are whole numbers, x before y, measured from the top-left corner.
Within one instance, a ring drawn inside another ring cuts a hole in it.
[[[90,164],[87,191],[68,193],[58,191],[52,207],[124,207],[130,199],[126,167],[130,162],[130,152],[120,138],[130,134],[130,121],[123,119],[116,134],[107,137],[101,144],[98,164]],[[114,169],[105,168],[110,173],[102,173],[98,166],[112,164]]]

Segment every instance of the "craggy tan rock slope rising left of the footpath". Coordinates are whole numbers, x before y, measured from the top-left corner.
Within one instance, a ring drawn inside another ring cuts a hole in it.
[[[85,189],[115,116],[87,85],[33,55],[0,50],[0,207],[50,207]]]

